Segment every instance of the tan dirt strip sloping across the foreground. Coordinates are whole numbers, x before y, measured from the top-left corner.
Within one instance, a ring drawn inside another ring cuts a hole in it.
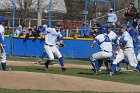
[[[60,91],[140,92],[140,86],[138,85],[122,84],[75,76],[23,71],[0,72],[0,88]]]

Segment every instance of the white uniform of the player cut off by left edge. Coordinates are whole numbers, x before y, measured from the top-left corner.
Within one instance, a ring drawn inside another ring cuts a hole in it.
[[[4,41],[4,33],[5,33],[5,29],[2,25],[0,25],[0,34],[2,36],[2,39]],[[6,63],[6,53],[5,53],[5,50],[1,44],[1,50],[2,50],[2,53],[0,54],[1,55],[1,63]]]

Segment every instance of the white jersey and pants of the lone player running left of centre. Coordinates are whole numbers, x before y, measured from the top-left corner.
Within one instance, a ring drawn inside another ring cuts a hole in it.
[[[56,31],[55,28],[46,28],[45,30],[45,51],[48,54],[49,60],[54,60],[55,54],[58,58],[62,57],[62,54],[57,48],[57,37],[62,37],[60,31]]]

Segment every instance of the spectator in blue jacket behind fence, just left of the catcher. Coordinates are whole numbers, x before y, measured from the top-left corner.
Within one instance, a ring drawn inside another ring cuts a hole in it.
[[[90,37],[92,28],[89,25],[89,22],[86,21],[80,28],[80,37]]]

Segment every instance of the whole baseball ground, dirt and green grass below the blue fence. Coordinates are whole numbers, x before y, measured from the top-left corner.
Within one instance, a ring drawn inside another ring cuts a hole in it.
[[[127,71],[124,64],[122,71],[111,77],[104,67],[94,75],[88,60],[66,59],[66,72],[59,64],[50,65],[46,72],[36,61],[37,58],[9,57],[9,71],[0,72],[0,93],[140,92],[139,72]]]

